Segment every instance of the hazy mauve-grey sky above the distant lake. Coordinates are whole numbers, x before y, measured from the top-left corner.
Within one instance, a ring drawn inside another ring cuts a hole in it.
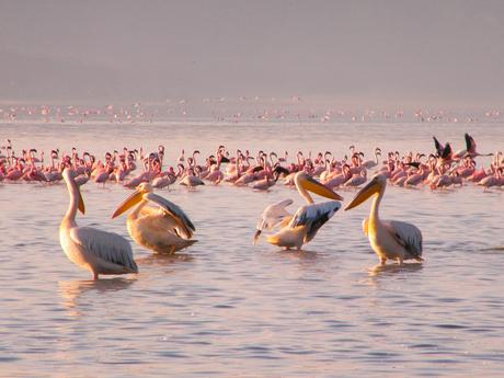
[[[504,100],[504,1],[0,1],[0,99]]]

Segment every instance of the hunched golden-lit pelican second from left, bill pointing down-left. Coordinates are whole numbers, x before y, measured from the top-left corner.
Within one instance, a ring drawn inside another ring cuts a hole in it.
[[[146,207],[147,204],[157,207]],[[170,201],[152,193],[152,185],[141,183],[112,215],[115,218],[138,204],[128,215],[126,224],[135,242],[156,253],[175,253],[193,243],[193,222],[185,213]]]

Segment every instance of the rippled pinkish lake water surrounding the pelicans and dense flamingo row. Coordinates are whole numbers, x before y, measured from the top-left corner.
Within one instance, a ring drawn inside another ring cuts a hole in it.
[[[214,126],[213,126],[214,125]],[[76,146],[102,153],[164,144],[209,153],[220,144],[271,150],[331,150],[356,144],[432,151],[432,135],[482,152],[502,149],[500,125],[210,124],[3,125],[14,148],[46,153]],[[486,160],[481,160],[486,162]],[[80,225],[129,239],[129,193],[83,187]],[[341,191],[345,203],[354,192]],[[161,191],[191,216],[199,241],[175,257],[134,245],[140,273],[99,282],[71,264],[58,240],[64,185],[0,183],[1,375],[89,377],[500,376],[504,367],[504,192],[465,186],[388,187],[382,216],[422,229],[423,264],[374,268],[362,233],[369,204],[340,211],[306,245],[282,252],[252,245],[263,208],[296,192],[227,185]]]

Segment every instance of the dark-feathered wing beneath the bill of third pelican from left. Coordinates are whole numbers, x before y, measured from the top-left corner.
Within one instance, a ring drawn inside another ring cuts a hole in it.
[[[305,226],[307,228],[305,240],[308,242],[314,238],[319,228],[331,219],[340,207],[341,203],[336,201],[301,206],[294,215],[288,227],[294,229],[298,226]]]

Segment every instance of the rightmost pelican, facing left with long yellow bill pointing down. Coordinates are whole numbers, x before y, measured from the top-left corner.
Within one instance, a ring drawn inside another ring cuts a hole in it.
[[[386,186],[387,177],[383,174],[376,175],[357,193],[345,210],[360,205],[375,195],[369,218],[363,221],[363,231],[369,238],[369,243],[378,254],[380,264],[385,265],[387,260],[397,260],[399,264],[410,259],[422,261],[422,232],[411,224],[380,220],[378,216],[378,207],[383,198]]]

